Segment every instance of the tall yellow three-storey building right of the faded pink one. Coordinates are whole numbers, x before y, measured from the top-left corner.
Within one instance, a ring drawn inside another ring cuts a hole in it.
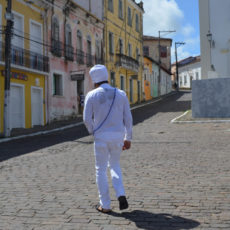
[[[110,83],[127,93],[131,104],[142,98],[143,3],[105,0],[105,64]]]

